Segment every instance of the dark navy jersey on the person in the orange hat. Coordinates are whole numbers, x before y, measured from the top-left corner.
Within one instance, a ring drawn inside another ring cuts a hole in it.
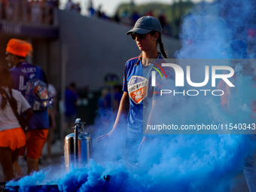
[[[29,78],[39,78],[47,83],[44,71],[38,66],[32,66],[28,62],[19,62],[14,68],[10,69],[11,77],[14,81],[14,89],[20,90],[25,96],[26,83]],[[29,121],[29,130],[49,128],[49,117],[47,110],[33,111],[32,119]]]

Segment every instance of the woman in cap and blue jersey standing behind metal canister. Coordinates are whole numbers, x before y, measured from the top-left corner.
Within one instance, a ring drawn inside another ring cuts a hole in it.
[[[110,137],[120,126],[122,117],[128,111],[128,147],[132,147],[131,151],[133,152],[137,151],[142,139],[145,139],[143,136],[143,117],[146,120],[149,114],[146,114],[147,117],[145,118],[143,108],[150,109],[154,105],[154,93],[157,92],[151,86],[151,81],[149,81],[152,68],[147,67],[151,65],[148,59],[163,59],[161,53],[164,58],[167,58],[163,48],[161,32],[160,22],[155,17],[145,16],[139,18],[133,29],[126,33],[126,35],[132,36],[142,53],[140,56],[129,59],[126,62],[123,75],[123,96],[120,100],[113,129],[108,134],[99,136],[97,142]],[[157,51],[157,44],[159,44],[161,53]]]

